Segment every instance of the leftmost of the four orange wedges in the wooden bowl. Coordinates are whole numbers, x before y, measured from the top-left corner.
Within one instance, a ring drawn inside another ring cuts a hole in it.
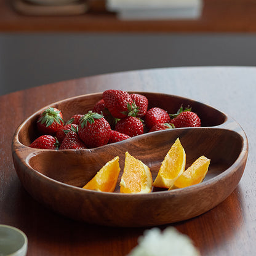
[[[116,156],[107,162],[83,188],[87,190],[113,192],[118,182],[119,172],[119,156]]]

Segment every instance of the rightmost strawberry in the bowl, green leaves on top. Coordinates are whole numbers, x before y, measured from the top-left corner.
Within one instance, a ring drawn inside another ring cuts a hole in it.
[[[177,114],[171,115],[174,118],[170,121],[175,128],[180,127],[200,127],[201,119],[199,116],[191,111],[191,108],[185,108],[183,110],[182,106],[178,110]]]

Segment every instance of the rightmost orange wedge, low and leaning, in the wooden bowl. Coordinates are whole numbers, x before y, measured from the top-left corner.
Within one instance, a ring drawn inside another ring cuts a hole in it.
[[[196,161],[178,177],[174,182],[173,188],[185,188],[186,186],[192,186],[202,182],[208,172],[209,164],[210,159],[205,156],[200,156],[200,158],[196,159]]]

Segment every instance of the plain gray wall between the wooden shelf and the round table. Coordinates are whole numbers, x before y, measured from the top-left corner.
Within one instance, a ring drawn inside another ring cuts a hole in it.
[[[0,95],[115,71],[255,64],[254,34],[0,34]]]

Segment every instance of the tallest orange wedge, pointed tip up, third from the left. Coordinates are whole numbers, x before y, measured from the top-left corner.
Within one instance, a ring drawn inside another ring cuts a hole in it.
[[[154,180],[153,186],[159,188],[170,188],[174,185],[175,180],[182,175],[186,166],[186,153],[180,143],[180,139],[174,142],[169,152],[166,154],[164,161]]]

